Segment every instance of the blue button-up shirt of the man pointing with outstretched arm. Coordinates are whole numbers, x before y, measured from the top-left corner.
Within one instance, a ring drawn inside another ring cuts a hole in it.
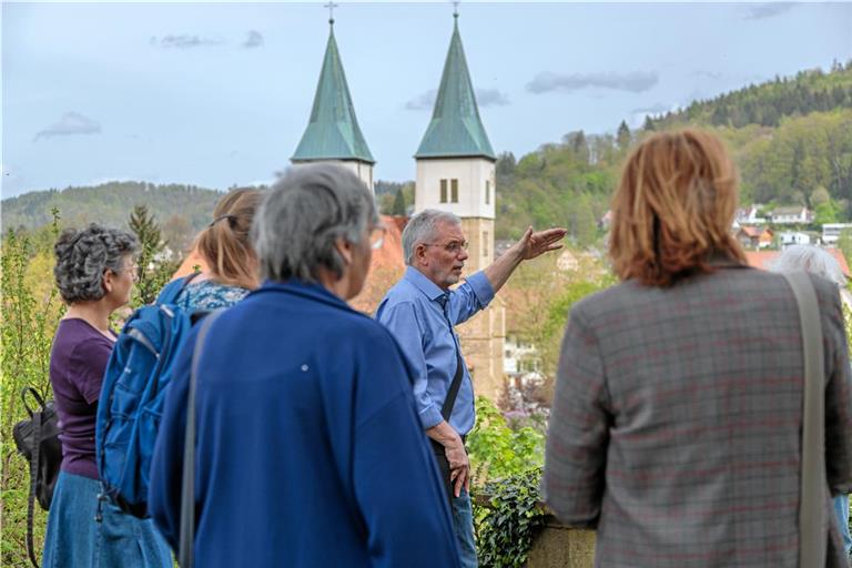
[[[414,399],[424,428],[444,419],[440,407],[458,364],[458,336],[453,326],[487,306],[494,287],[483,272],[477,272],[450,291],[446,307],[442,307],[445,297],[444,290],[409,266],[376,311],[376,320],[394,335],[414,372]],[[449,425],[465,435],[475,419],[474,384],[465,365]]]

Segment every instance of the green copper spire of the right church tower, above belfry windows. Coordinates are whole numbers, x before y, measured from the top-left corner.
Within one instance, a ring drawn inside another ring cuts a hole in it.
[[[458,13],[453,16],[456,22],[432,122],[414,158],[484,156],[496,160],[479,119],[474,85],[467,71],[462,37],[458,34]]]

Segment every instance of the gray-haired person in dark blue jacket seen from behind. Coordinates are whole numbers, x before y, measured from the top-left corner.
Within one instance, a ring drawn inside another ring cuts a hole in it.
[[[213,323],[199,362],[196,566],[457,566],[404,359],[346,304],[384,234],[369,191],[343,168],[294,169],[253,232],[265,282]],[[173,548],[195,335],[151,470]]]

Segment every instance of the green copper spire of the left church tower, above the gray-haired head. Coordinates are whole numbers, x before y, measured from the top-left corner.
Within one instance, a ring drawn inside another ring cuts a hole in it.
[[[329,23],[333,24],[334,20],[329,20]],[[316,84],[311,121],[291,160],[359,160],[371,164],[376,162],[355,118],[355,108],[343,72],[333,26],[328,33],[328,45],[325,48],[323,70]]]

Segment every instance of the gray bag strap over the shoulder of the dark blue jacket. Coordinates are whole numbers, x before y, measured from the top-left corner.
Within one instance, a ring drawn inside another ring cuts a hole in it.
[[[199,362],[204,347],[204,338],[213,322],[223,310],[211,313],[201,323],[195,346],[192,352],[190,372],[190,393],[186,397],[186,429],[183,439],[183,478],[181,479],[181,530],[178,541],[178,564],[181,568],[192,568],[195,548],[195,390],[199,383]]]

